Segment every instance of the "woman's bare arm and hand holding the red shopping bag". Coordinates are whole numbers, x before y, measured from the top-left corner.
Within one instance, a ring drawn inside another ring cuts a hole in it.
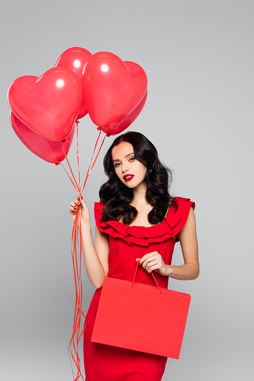
[[[184,265],[166,265],[162,256],[154,251],[144,255],[139,261],[148,272],[156,271],[161,275],[179,280],[192,280],[199,276],[198,241],[196,235],[196,219],[193,208],[190,208],[187,221],[178,233]],[[138,258],[137,258],[138,260]]]

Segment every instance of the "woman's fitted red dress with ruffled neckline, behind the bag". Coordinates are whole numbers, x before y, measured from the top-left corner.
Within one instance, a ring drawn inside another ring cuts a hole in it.
[[[170,265],[177,236],[184,226],[190,207],[195,203],[188,198],[175,197],[178,208],[171,207],[165,220],[151,227],[129,226],[118,221],[101,222],[102,202],[94,204],[94,216],[100,231],[109,235],[109,277],[131,281],[136,258],[157,251]],[[168,277],[154,272],[160,286],[168,288]],[[145,270],[138,271],[136,281],[153,285]],[[101,290],[97,289],[86,315],[84,330],[84,366],[86,381],[160,381],[167,357],[150,355],[135,350],[91,342],[91,334]],[[105,327],[107,329],[107,327]],[[148,334],[149,334],[148,328]]]

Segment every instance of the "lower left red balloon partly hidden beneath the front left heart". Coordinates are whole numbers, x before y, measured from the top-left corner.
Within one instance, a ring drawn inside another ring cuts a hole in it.
[[[55,163],[64,160],[66,158],[65,153],[66,156],[68,155],[75,133],[75,124],[70,135],[61,143],[60,141],[52,141],[37,134],[24,125],[12,111],[10,113],[10,122],[15,134],[26,148],[41,159],[49,163]],[[65,150],[65,153],[62,148]]]

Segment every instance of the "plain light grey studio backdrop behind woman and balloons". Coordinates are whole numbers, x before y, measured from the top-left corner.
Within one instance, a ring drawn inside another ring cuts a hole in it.
[[[41,75],[73,46],[141,65],[148,99],[129,130],[144,133],[175,173],[174,195],[196,201],[201,275],[170,280],[192,295],[179,360],[163,380],[250,380],[253,360],[252,1],[10,0],[1,11],[1,379],[72,379],[74,314],[69,202],[60,166],[30,153],[9,123],[7,89]],[[80,123],[84,179],[98,131]],[[102,158],[84,198],[104,182]],[[75,143],[69,158],[77,168]],[[182,262],[179,244],[174,264]],[[93,294],[82,271],[87,310]],[[149,327],[152,329],[152,327]]]

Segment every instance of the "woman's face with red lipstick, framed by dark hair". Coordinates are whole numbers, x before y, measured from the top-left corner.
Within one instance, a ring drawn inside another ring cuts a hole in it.
[[[114,146],[112,160],[115,173],[120,181],[128,188],[145,186],[146,167],[135,158],[131,143],[122,141]]]

